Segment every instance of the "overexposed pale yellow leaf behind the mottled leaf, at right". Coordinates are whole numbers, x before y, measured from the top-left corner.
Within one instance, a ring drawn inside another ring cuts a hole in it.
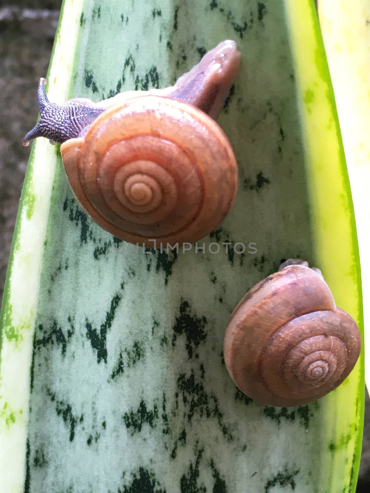
[[[362,290],[370,297],[370,5],[355,0],[351,5],[321,0],[319,16],[342,132],[348,174],[353,193],[360,246]],[[345,70],[343,70],[345,67]],[[350,88],[350,89],[349,89]],[[369,339],[370,307],[364,304],[365,342]],[[365,367],[370,388],[370,368]]]

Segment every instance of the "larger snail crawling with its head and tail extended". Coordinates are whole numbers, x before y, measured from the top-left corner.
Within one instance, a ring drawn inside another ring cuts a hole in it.
[[[40,121],[22,143],[60,143],[76,199],[117,238],[141,246],[193,243],[222,222],[235,199],[236,159],[214,118],[239,64],[236,43],[226,40],[174,86],[61,106],[48,101],[40,79]]]

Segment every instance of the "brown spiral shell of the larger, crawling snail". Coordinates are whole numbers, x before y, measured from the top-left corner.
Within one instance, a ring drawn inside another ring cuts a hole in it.
[[[221,127],[195,106],[145,95],[112,106],[61,145],[77,200],[130,243],[182,245],[215,229],[238,184]]]

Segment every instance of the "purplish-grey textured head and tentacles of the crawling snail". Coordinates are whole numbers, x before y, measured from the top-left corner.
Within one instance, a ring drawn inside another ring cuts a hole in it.
[[[104,111],[104,108],[94,107],[85,99],[70,100],[64,105],[50,103],[45,84],[46,79],[41,78],[37,89],[40,120],[22,139],[25,146],[37,137],[46,137],[58,144],[78,137]]]

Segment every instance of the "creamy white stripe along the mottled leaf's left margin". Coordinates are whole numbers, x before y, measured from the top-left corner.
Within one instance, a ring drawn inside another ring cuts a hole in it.
[[[66,89],[76,41],[73,32],[79,27],[74,14],[68,5],[61,11],[64,22],[57,30],[54,65],[48,74],[50,78],[58,74],[59,84],[49,84],[51,98],[68,97]],[[22,191],[1,311],[0,477],[2,491],[9,493],[22,491],[25,480],[32,340],[55,164],[53,147],[47,141],[35,142]]]

